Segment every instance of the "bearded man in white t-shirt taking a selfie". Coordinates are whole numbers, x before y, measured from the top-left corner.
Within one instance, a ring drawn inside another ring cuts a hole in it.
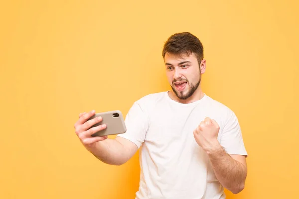
[[[163,48],[172,90],[137,100],[115,139],[91,137],[106,126],[79,115],[76,134],[88,151],[111,165],[128,161],[141,147],[136,199],[224,199],[239,193],[247,176],[241,129],[234,112],[201,89],[203,46],[194,35],[172,35]],[[88,130],[89,129],[89,130]]]

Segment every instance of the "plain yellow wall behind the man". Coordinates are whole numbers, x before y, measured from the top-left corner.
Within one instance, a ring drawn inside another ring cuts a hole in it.
[[[73,124],[169,89],[161,50],[182,31],[204,44],[204,91],[243,130],[248,179],[228,198],[298,197],[298,9],[296,0],[2,1],[0,198],[133,199],[137,154],[105,165]]]

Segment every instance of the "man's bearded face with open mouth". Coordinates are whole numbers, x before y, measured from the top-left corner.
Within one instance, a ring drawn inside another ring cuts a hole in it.
[[[190,98],[200,85],[201,70],[196,55],[166,53],[164,61],[167,79],[175,95],[180,100]]]

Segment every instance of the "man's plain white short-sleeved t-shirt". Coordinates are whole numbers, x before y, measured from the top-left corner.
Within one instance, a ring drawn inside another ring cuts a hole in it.
[[[234,112],[206,94],[181,104],[168,92],[137,100],[125,118],[127,132],[117,136],[140,148],[140,183],[135,199],[224,199],[206,152],[193,131],[205,117],[220,126],[218,140],[228,154],[247,156]]]

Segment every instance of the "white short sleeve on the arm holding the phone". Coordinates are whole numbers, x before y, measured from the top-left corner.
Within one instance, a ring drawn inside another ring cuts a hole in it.
[[[145,140],[148,117],[138,102],[135,102],[128,111],[125,118],[125,125],[127,131],[117,136],[130,140],[139,148]]]

